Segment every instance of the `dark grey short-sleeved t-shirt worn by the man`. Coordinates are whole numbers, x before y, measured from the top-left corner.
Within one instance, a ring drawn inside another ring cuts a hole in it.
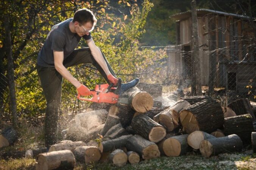
[[[41,51],[38,53],[38,65],[54,67],[53,50],[64,51],[64,60],[74,51],[81,37],[78,36],[78,34],[70,31],[70,22],[72,22],[72,18],[67,19],[52,27],[47,35]],[[83,36],[83,38],[86,40],[91,39],[91,33],[89,36]]]

